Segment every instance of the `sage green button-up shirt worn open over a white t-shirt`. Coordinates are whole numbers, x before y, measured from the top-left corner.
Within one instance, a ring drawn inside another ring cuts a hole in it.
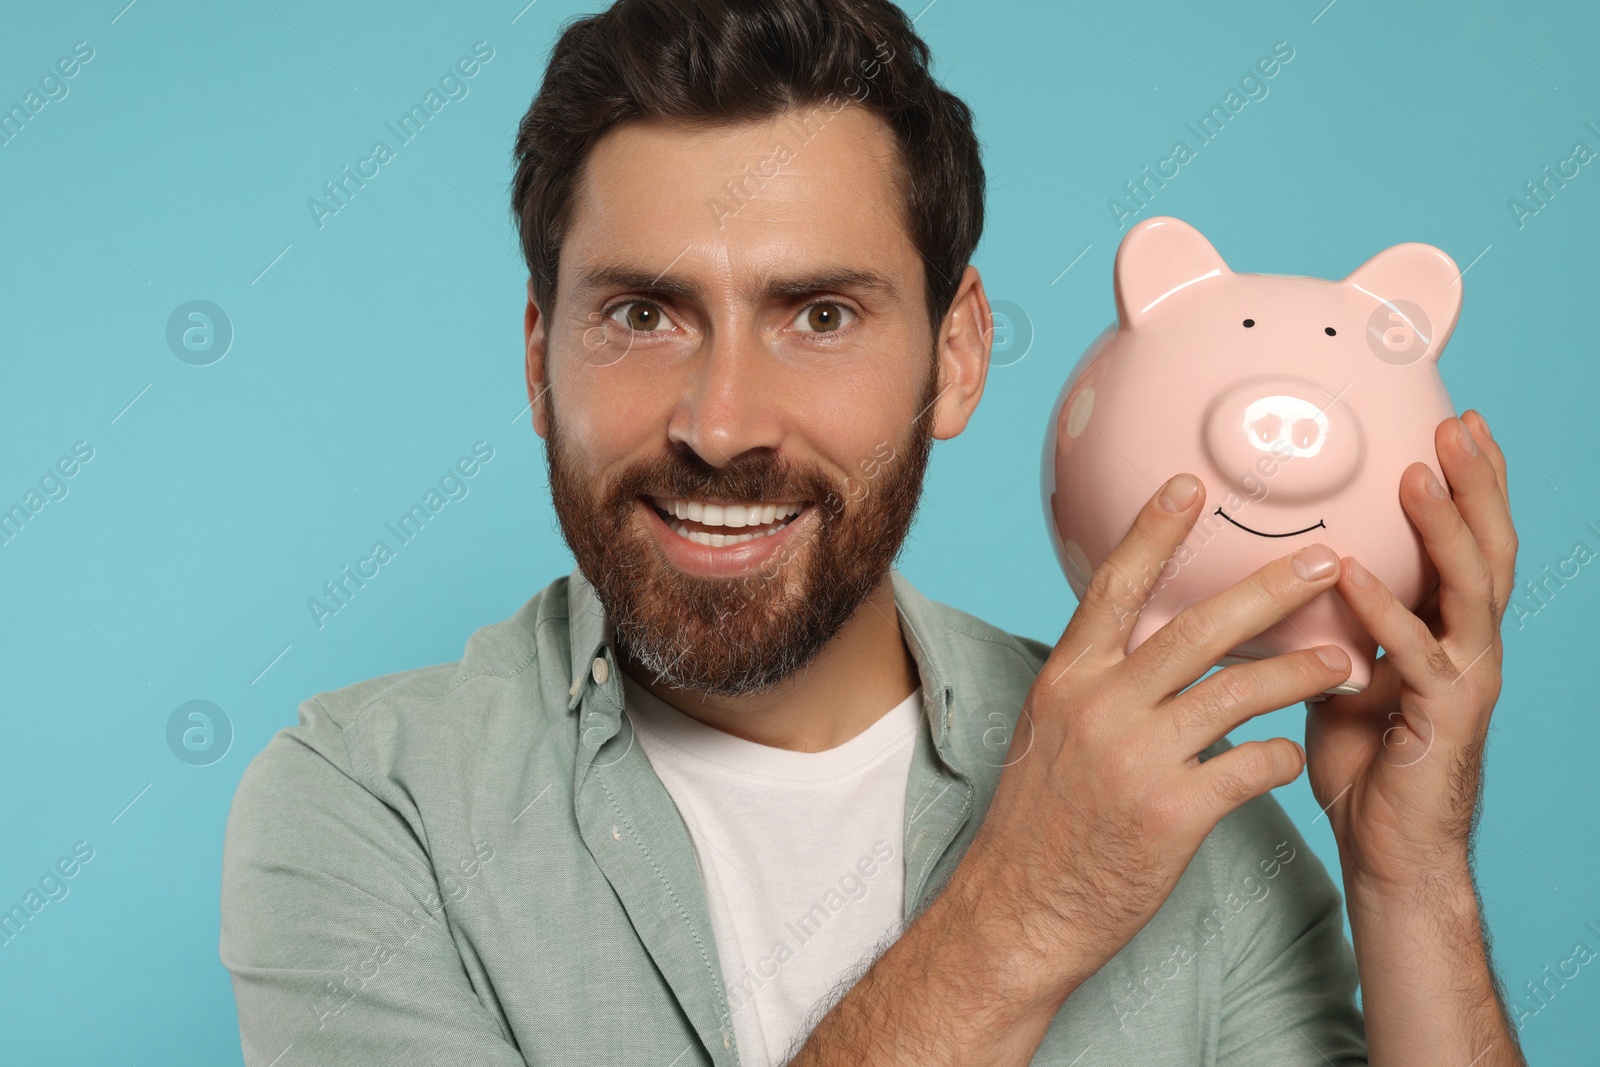
[[[906,785],[910,920],[982,822],[1050,649],[893,582],[926,713]],[[573,571],[459,662],[307,699],[251,760],[219,945],[250,1067],[739,1062],[693,845],[622,713],[606,630]],[[1355,979],[1338,888],[1259,797],[1032,1062],[1365,1064]]]

